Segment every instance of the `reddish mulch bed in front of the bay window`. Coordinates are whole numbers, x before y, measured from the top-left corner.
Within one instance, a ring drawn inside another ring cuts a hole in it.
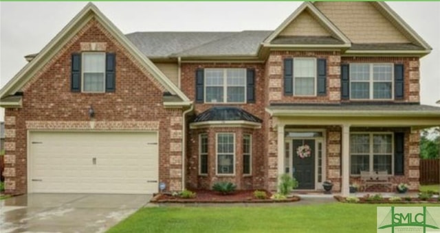
[[[222,195],[210,190],[197,190],[195,198],[184,199],[173,197],[170,193],[159,193],[151,199],[153,203],[274,203],[274,202],[292,202],[299,201],[300,197],[287,197],[285,200],[270,199],[272,193],[265,191],[266,199],[256,199],[253,190],[235,191],[228,195]]]

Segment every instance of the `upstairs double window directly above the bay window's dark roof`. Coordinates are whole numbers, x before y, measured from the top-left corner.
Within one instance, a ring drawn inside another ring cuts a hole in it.
[[[205,69],[207,103],[244,103],[245,96],[245,69]]]

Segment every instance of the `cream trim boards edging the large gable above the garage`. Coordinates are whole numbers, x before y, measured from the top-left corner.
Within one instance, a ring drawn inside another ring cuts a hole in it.
[[[63,45],[69,41],[73,36],[75,36],[76,32],[78,32],[85,23],[89,22],[90,19],[96,19],[105,29],[107,29],[108,32],[111,33],[111,35],[118,40],[118,42],[121,43],[122,46],[124,46],[137,60],[137,62],[140,63],[141,66],[144,66],[147,71],[149,71],[153,78],[159,82],[164,88],[170,92],[173,95],[177,95],[185,104],[190,104],[190,100],[184,93],[173,84],[165,75],[162,73],[162,71],[159,71],[155,64],[151,62],[146,56],[144,56],[143,53],[137,49],[133,45],[133,43],[130,42],[120,32],[118,27],[113,25],[109,19],[107,19],[98,8],[93,3],[88,3],[83,10],[81,10],[75,17],[70,21],[62,30],[59,32],[55,38],[53,38],[49,44],[47,44],[36,56],[31,62],[26,64],[26,66],[15,75],[8,84],[6,84],[1,90],[0,90],[0,98],[8,97],[10,95],[14,95],[19,91],[26,82],[30,80],[30,78],[38,72],[51,58],[54,56],[58,51],[60,51],[63,48]]]

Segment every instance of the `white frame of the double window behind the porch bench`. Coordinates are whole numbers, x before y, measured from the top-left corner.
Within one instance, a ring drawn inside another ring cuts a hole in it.
[[[369,134],[369,171],[373,172],[374,171],[374,136],[375,135],[380,135],[380,134],[386,134],[386,135],[391,135],[391,154],[386,154],[386,155],[390,155],[391,156],[391,174],[388,175],[394,175],[394,134],[393,132],[351,132],[350,136],[353,134]],[[365,153],[362,154],[358,154],[360,155],[366,155]],[[351,153],[351,143],[350,143],[350,164],[349,164],[349,170],[350,170],[350,175],[352,176],[360,176],[360,174],[352,174],[351,173],[351,156],[357,156],[356,154],[352,154]]]

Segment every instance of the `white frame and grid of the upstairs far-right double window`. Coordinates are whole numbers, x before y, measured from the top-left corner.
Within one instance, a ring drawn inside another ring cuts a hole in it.
[[[353,79],[351,78],[351,64],[368,64],[370,67],[370,78],[368,81],[353,81]],[[393,101],[394,100],[394,63],[366,63],[366,62],[357,62],[357,63],[351,63],[349,66],[349,77],[350,77],[350,93],[349,93],[349,97],[350,100],[353,101],[364,101],[364,100],[374,100],[374,101]],[[388,82],[388,81],[374,81],[374,69],[373,66],[375,64],[383,64],[383,65],[391,65],[391,99],[374,99],[374,84],[377,82]],[[369,98],[368,99],[352,99],[351,98],[351,84],[353,82],[368,82],[369,83]]]

